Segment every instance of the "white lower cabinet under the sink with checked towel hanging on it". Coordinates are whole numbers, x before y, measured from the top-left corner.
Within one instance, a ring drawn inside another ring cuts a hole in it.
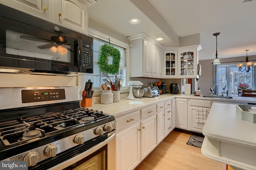
[[[209,100],[188,100],[188,130],[202,133],[212,106]]]

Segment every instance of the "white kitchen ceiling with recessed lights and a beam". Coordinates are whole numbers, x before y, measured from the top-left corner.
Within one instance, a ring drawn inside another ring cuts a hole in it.
[[[90,21],[125,37],[146,33],[164,47],[179,47],[179,37],[200,34],[199,60],[256,55],[256,0],[97,0]],[[138,25],[128,23],[140,18]]]

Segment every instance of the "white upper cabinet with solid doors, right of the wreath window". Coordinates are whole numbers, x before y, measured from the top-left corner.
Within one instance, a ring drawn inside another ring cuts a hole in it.
[[[130,77],[162,78],[162,46],[142,33],[130,41]]]

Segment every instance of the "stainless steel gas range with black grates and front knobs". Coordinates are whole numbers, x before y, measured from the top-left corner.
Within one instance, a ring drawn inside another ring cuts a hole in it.
[[[108,145],[114,116],[80,107],[80,92],[80,87],[0,88],[0,160],[28,161],[28,169],[63,169]],[[107,161],[102,166],[107,169]]]

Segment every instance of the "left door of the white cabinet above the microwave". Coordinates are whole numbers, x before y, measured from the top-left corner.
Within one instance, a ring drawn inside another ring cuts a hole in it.
[[[0,0],[0,2],[44,20],[49,18],[49,0]]]

